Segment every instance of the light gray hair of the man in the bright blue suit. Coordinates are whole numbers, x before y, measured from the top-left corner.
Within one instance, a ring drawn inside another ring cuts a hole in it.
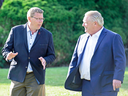
[[[98,11],[88,11],[85,13],[85,16],[88,16],[92,22],[96,21],[99,25],[104,25],[104,18]]]

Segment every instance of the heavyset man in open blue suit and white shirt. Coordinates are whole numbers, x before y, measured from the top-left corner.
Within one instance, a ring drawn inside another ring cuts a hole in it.
[[[103,27],[98,11],[85,13],[85,34],[77,41],[65,88],[82,96],[117,96],[123,82],[126,57],[119,34]]]

